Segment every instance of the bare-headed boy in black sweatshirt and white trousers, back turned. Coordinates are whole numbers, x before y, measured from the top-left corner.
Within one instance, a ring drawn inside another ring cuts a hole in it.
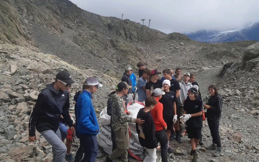
[[[140,145],[146,148],[149,161],[156,161],[156,150],[160,149],[156,140],[154,120],[150,114],[150,110],[152,110],[156,104],[157,101],[154,97],[148,97],[145,100],[145,108],[141,108],[137,115],[137,118],[145,120],[145,123],[141,125],[136,123],[136,131],[139,136]]]

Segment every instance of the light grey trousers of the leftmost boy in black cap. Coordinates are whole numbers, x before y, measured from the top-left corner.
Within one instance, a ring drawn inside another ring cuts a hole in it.
[[[40,134],[52,146],[52,152],[53,152],[52,162],[63,162],[63,161],[65,161],[65,155],[66,155],[66,152],[67,152],[67,147],[61,140],[60,130],[57,129],[56,133],[53,130],[46,130],[44,132],[40,132]]]

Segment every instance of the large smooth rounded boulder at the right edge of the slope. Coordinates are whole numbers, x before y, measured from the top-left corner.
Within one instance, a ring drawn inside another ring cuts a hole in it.
[[[243,57],[242,57],[240,69],[241,70],[245,69],[246,62],[249,60],[255,59],[257,57],[259,57],[259,42],[246,47],[246,49],[244,50]]]

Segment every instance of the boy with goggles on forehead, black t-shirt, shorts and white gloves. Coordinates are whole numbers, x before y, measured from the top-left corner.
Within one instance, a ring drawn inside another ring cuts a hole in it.
[[[180,117],[183,122],[186,122],[188,129],[188,138],[191,139],[191,155],[193,155],[193,162],[198,161],[198,154],[196,153],[196,145],[199,143],[202,134],[202,100],[198,97],[196,88],[188,90],[189,99],[184,102],[184,113]]]

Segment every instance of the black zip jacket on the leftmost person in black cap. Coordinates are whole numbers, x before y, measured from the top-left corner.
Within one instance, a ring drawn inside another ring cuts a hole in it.
[[[38,95],[35,107],[29,121],[29,136],[35,136],[35,127],[37,131],[59,129],[59,118],[62,115],[69,127],[73,122],[69,116],[69,94],[68,91],[56,90],[53,87],[54,82],[49,84]]]

